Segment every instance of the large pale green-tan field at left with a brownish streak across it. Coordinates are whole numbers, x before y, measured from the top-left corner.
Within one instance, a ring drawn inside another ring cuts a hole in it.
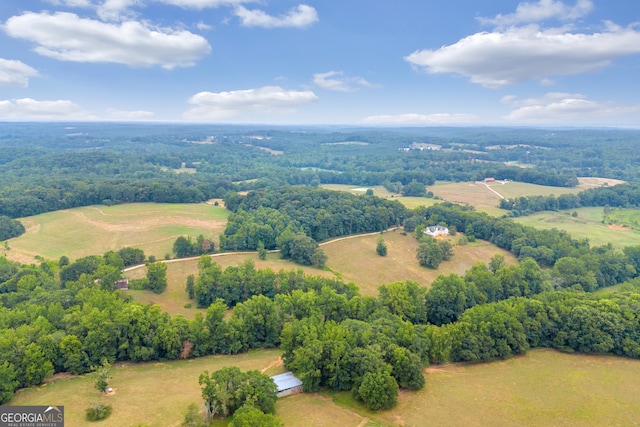
[[[21,218],[27,232],[9,240],[9,259],[31,263],[36,255],[71,260],[130,246],[164,258],[178,236],[199,234],[218,242],[229,213],[206,203],[132,203],[87,206]]]

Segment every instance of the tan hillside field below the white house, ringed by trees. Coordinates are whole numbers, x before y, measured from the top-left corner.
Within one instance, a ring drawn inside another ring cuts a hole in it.
[[[466,246],[454,246],[454,256],[440,264],[437,270],[421,267],[416,259],[418,241],[400,230],[384,233],[388,255],[376,253],[379,234],[358,236],[323,245],[329,257],[327,266],[345,281],[353,281],[362,295],[378,295],[378,287],[398,280],[415,280],[427,286],[440,274],[464,274],[476,262],[488,262],[495,254],[504,255],[506,262],[515,263],[515,257],[490,243],[477,241]],[[451,243],[458,237],[450,237]]]

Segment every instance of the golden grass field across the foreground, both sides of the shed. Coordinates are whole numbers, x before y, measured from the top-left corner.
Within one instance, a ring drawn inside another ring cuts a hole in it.
[[[167,363],[117,364],[104,397],[113,414],[101,426],[146,423],[179,426],[190,403],[200,403],[198,376],[224,366],[283,371],[278,350],[209,356]],[[403,392],[398,406],[372,412],[350,392],[290,396],[276,404],[284,425],[297,426],[602,426],[634,425],[640,417],[640,361],[613,356],[565,354],[540,349],[505,361],[449,364],[425,370],[427,384]],[[69,425],[84,421],[84,409],[100,394],[91,376],[58,379],[23,390],[11,405],[65,406]],[[215,425],[226,425],[220,422]]]

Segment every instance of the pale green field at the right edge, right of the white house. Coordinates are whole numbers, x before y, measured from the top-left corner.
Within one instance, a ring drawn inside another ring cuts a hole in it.
[[[578,216],[571,216],[572,212]],[[640,214],[640,211],[636,211]],[[533,215],[514,218],[514,221],[536,228],[567,231],[574,239],[589,239],[592,246],[611,243],[617,248],[635,246],[640,243],[640,230],[602,223],[604,208],[591,207],[559,212],[537,212]]]

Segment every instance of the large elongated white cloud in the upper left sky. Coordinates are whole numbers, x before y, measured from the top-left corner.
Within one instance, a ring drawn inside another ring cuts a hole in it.
[[[36,43],[40,55],[61,61],[172,69],[194,65],[211,51],[205,38],[189,31],[136,21],[109,24],[73,13],[27,12],[9,18],[4,30]]]

